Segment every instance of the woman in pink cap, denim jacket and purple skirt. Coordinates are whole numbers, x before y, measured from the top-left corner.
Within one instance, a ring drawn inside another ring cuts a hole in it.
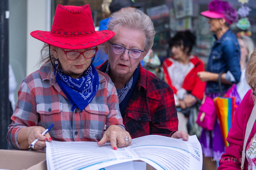
[[[221,96],[220,90],[236,98],[239,105],[241,99],[237,93],[236,84],[240,81],[240,47],[230,25],[237,21],[236,10],[227,2],[214,0],[209,3],[208,11],[201,14],[209,18],[210,31],[214,33],[214,45],[209,56],[205,71],[198,72],[198,77],[206,81],[205,96],[214,99]],[[223,73],[223,74],[222,74]],[[221,79],[221,87],[218,85],[218,77]],[[204,99],[203,99],[204,101]],[[215,112],[216,113],[216,112]],[[206,113],[205,113],[206,114]],[[203,129],[200,137],[202,152],[204,153],[205,169],[216,169],[216,161],[220,160],[225,152],[225,145],[221,135],[220,124],[216,114],[212,118],[212,129]],[[215,161],[216,160],[216,161]]]

